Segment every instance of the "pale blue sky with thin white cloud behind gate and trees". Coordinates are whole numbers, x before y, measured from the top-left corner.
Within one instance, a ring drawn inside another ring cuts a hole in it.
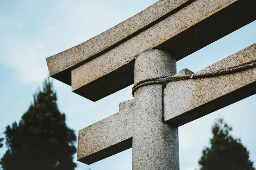
[[[128,19],[157,0],[0,0],[0,133],[20,120],[32,102],[32,94],[48,76],[46,58],[76,46]],[[256,21],[177,62],[196,72],[256,43]],[[58,105],[66,123],[78,133],[118,112],[119,103],[132,99],[131,87],[97,102],[73,92],[54,80]],[[256,162],[256,95],[179,127],[180,170],[198,167],[201,151],[209,146],[211,126],[218,117],[233,127]],[[0,149],[0,157],[6,148]],[[131,170],[132,149],[92,165],[77,163],[76,170]],[[254,164],[256,165],[256,163]]]

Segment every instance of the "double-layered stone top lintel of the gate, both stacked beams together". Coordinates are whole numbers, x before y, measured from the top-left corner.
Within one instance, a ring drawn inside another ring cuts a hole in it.
[[[133,84],[139,53],[167,50],[178,61],[256,20],[255,7],[255,0],[160,0],[93,39],[47,58],[49,73],[72,84],[73,92],[97,101]]]

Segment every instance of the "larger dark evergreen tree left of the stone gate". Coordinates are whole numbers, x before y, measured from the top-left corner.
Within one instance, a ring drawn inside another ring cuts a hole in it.
[[[4,170],[74,170],[76,135],[66,126],[56,100],[48,78],[20,122],[6,127],[8,150],[0,162]]]

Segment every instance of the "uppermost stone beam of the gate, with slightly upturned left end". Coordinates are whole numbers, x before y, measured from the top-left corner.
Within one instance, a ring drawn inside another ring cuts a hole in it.
[[[111,50],[194,0],[160,0],[133,17],[73,48],[47,58],[50,76],[71,85],[67,70]],[[62,73],[63,72],[63,73]]]

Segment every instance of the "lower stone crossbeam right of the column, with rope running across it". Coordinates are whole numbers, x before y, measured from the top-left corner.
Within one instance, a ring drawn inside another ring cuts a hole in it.
[[[206,73],[256,59],[256,44],[206,67]],[[169,82],[164,89],[164,121],[179,127],[256,93],[256,68],[211,78]]]

